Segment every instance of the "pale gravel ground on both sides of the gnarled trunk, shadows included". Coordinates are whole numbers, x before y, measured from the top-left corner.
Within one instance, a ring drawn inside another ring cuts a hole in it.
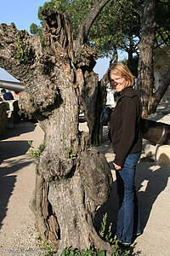
[[[161,108],[153,119],[170,124],[170,112]],[[164,112],[163,112],[164,111]],[[84,129],[84,124],[81,124]],[[0,141],[0,255],[42,255],[37,247],[35,218],[29,201],[35,186],[35,163],[28,154],[28,141],[37,148],[43,132],[38,124],[20,123],[8,129]],[[99,151],[110,163],[113,160],[111,144],[105,141]],[[143,155],[144,156],[144,155]],[[114,170],[110,200],[99,208],[108,212],[108,221],[116,223],[117,196]],[[130,248],[131,255],[170,255],[170,165],[157,166],[155,162],[140,161],[137,168],[141,224],[143,234]]]

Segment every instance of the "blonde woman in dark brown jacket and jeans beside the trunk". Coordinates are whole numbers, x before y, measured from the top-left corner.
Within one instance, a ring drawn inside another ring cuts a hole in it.
[[[133,90],[133,74],[121,62],[109,69],[111,87],[119,97],[111,113],[111,142],[115,160],[119,212],[116,236],[124,246],[132,243],[133,236],[140,235],[139,207],[134,177],[136,164],[142,149],[140,105]]]

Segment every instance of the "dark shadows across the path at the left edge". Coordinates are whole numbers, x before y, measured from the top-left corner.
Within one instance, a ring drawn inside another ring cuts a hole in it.
[[[28,166],[32,160],[26,160],[25,154],[30,148],[27,141],[12,140],[12,137],[18,137],[21,133],[34,131],[34,124],[15,125],[14,129],[8,129],[0,141],[0,227],[3,218],[8,210],[8,200],[13,193],[18,172],[21,168]],[[10,141],[7,141],[10,137]],[[15,160],[15,157],[20,159]],[[23,157],[22,157],[23,156]],[[18,207],[18,206],[16,206]]]

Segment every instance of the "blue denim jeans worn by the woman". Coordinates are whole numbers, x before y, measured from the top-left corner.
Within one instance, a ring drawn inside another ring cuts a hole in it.
[[[119,212],[116,236],[119,241],[131,243],[133,235],[140,233],[138,198],[134,186],[136,165],[141,152],[128,154],[122,170],[116,171]]]

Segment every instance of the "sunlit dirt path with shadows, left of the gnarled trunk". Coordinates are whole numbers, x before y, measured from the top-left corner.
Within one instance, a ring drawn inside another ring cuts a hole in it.
[[[28,141],[37,148],[42,138],[39,125],[20,123],[0,141],[0,255],[38,255],[35,220],[29,208],[35,163],[28,154]],[[29,249],[32,253],[26,254]]]

